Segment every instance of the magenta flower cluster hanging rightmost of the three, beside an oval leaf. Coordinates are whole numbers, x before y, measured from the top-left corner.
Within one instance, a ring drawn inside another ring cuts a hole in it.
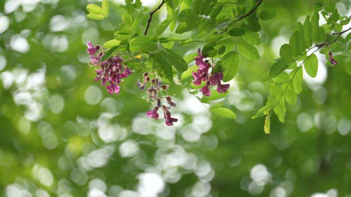
[[[210,96],[211,92],[209,89],[210,85],[217,85],[217,92],[225,93],[229,89],[229,84],[222,84],[223,73],[209,73],[209,70],[213,70],[212,65],[208,63],[208,60],[204,60],[206,56],[201,54],[201,50],[198,50],[199,57],[195,57],[196,65],[199,69],[197,72],[192,72],[194,80],[192,81],[194,85],[200,85],[202,81],[206,81],[206,85],[203,86],[200,91],[206,96]]]

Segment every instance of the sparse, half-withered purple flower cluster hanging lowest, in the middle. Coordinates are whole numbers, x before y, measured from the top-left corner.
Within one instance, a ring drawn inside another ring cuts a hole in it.
[[[148,95],[147,99],[148,99],[148,101],[151,101],[151,102],[157,104],[157,106],[155,106],[153,108],[153,110],[146,112],[146,117],[158,120],[159,116],[160,116],[158,111],[160,108],[162,108],[163,116],[165,118],[165,123],[167,126],[171,126],[171,125],[173,125],[173,122],[177,122],[178,119],[171,117],[171,113],[169,112],[169,109],[170,109],[170,107],[175,107],[177,104],[172,102],[172,98],[168,94],[168,85],[163,85],[155,76],[153,79],[150,79],[148,74],[149,73],[143,74],[143,78],[144,78],[143,83],[141,83],[139,79],[136,82],[136,85],[139,86],[139,90],[144,90],[145,86],[149,83],[149,87],[146,91],[146,93]],[[155,74],[152,73],[152,75],[155,75]],[[161,97],[160,90],[164,91],[167,94],[167,96]],[[166,102],[169,104],[169,107],[163,105],[161,99],[165,99]]]

